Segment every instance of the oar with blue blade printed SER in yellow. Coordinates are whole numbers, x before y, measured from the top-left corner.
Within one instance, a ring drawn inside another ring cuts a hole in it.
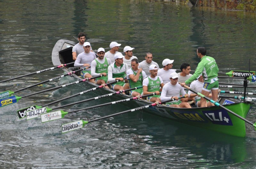
[[[65,85],[61,85],[61,86],[56,86],[54,88],[49,88],[49,89],[46,89],[46,90],[43,90],[43,91],[39,91],[39,92],[36,92],[36,93],[31,93],[31,94],[28,94],[28,95],[24,95],[24,96],[11,96],[11,98],[13,98],[12,100],[15,100],[16,99],[16,102],[18,102],[21,98],[24,98],[24,97],[28,97],[28,96],[32,96],[32,95],[36,95],[36,94],[39,94],[39,93],[44,93],[44,92],[47,92],[47,91],[50,91],[50,90],[54,90],[54,89],[58,89],[58,88],[64,88],[66,86],[71,86],[73,84],[77,84],[77,83],[81,83],[81,82],[84,82],[84,81],[89,81],[89,80],[92,80],[92,79],[95,79],[95,78],[98,78],[98,77],[101,77],[103,75],[99,75],[99,76],[94,76],[94,77],[91,77],[91,78],[86,78],[86,79],[83,79],[83,80],[80,80],[80,81],[75,81],[75,82],[72,82],[72,83],[68,83],[68,84],[65,84]],[[6,99],[0,99],[0,102],[1,101],[5,101]],[[16,103],[15,102],[15,103]],[[12,103],[9,103],[9,104],[6,104],[6,105],[10,105],[10,104],[13,104],[14,102],[12,101]],[[5,106],[5,105],[4,105]]]

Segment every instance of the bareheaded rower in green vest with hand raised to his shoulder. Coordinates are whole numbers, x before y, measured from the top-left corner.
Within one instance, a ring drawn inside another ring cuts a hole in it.
[[[130,88],[142,86],[142,81],[147,77],[146,73],[142,70],[142,68],[138,68],[139,60],[134,58],[131,60],[132,68],[128,69],[126,72],[127,81]],[[129,92],[133,97],[142,95],[143,89],[138,88],[136,90],[132,90]]]

